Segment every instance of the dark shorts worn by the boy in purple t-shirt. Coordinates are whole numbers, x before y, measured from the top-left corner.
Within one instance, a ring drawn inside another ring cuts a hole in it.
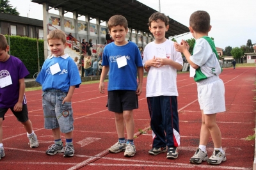
[[[9,108],[0,108],[0,118],[3,118],[3,120],[4,120],[4,114],[6,114],[8,109]],[[22,105],[22,111],[20,112],[13,111],[13,107],[10,107],[10,109],[18,121],[20,122],[28,121],[28,107],[26,104]]]

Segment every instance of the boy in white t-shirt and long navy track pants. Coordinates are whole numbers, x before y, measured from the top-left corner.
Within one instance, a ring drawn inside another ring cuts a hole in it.
[[[168,17],[159,12],[148,19],[149,30],[156,40],[145,47],[143,65],[148,72],[146,97],[153,135],[148,153],[158,155],[168,148],[167,158],[175,159],[180,144],[176,77],[183,60],[173,42],[165,38],[168,23]]]

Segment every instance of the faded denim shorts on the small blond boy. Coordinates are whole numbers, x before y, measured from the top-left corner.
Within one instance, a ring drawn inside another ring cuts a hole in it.
[[[59,128],[63,133],[74,130],[74,118],[71,102],[62,104],[67,93],[58,89],[43,91],[44,127],[46,129]]]

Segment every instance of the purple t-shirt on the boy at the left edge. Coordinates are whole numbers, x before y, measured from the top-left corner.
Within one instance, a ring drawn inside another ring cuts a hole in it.
[[[0,88],[0,108],[14,107],[19,100],[19,79],[29,75],[26,66],[19,58],[10,56],[5,62],[0,62],[0,79],[10,75],[12,84],[4,88]],[[24,94],[23,104],[26,104],[26,97]]]

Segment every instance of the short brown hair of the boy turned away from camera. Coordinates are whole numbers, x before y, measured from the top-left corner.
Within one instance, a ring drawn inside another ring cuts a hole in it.
[[[189,26],[197,33],[208,33],[210,29],[210,15],[205,11],[196,11],[190,15]]]

